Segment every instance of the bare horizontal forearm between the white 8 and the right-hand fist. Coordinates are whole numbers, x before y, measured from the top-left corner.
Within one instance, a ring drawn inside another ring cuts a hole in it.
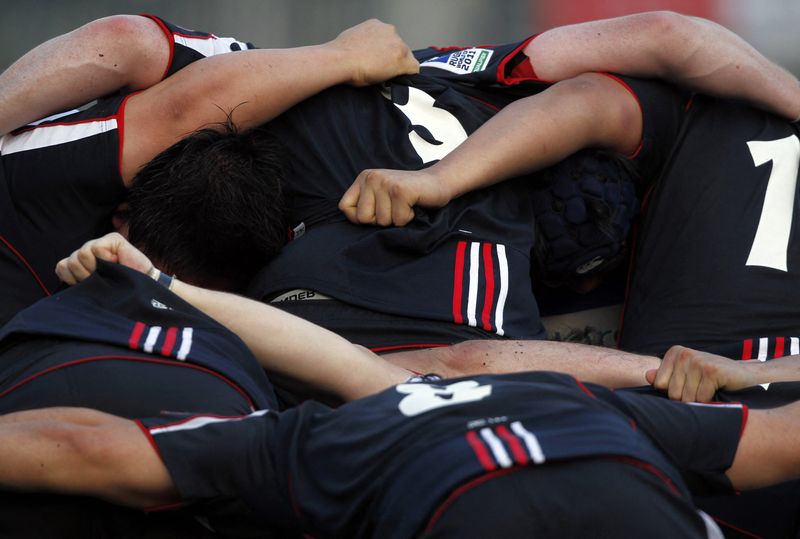
[[[646,385],[645,372],[659,365],[659,359],[652,356],[553,341],[466,341],[384,357],[407,369],[445,377],[556,371],[612,388]]]

